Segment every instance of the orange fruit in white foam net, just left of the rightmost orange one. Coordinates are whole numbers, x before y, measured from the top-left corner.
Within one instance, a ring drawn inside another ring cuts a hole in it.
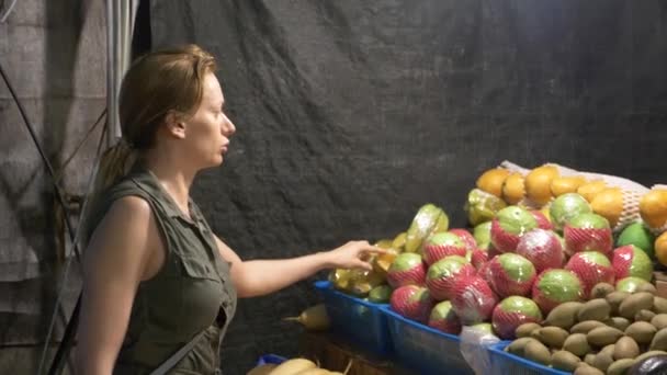
[[[613,231],[640,218],[641,194],[633,190],[607,188],[595,194],[590,206],[592,211],[609,220]]]

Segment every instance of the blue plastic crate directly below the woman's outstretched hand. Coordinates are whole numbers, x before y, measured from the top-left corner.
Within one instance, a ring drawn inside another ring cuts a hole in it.
[[[371,354],[386,359],[392,355],[387,319],[380,310],[383,304],[373,304],[336,291],[328,281],[315,282],[320,291],[331,331],[350,340]]]

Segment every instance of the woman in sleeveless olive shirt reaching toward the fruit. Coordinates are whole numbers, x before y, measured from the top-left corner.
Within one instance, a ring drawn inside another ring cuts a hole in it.
[[[103,157],[95,189],[103,193],[93,193],[86,215],[79,374],[149,374],[170,357],[171,374],[216,374],[237,296],[327,268],[369,269],[364,255],[381,251],[353,241],[244,262],[211,231],[190,188],[200,170],[223,163],[236,132],[214,69],[191,45],[137,59],[123,80],[123,139]]]

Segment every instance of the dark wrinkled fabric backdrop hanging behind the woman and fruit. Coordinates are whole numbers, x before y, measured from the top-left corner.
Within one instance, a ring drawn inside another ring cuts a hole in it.
[[[393,237],[462,205],[505,159],[665,182],[667,3],[201,0],[150,3],[152,47],[219,59],[237,135],[194,195],[244,259]],[[318,275],[324,277],[324,274]],[[312,280],[241,300],[223,368],[294,355]]]

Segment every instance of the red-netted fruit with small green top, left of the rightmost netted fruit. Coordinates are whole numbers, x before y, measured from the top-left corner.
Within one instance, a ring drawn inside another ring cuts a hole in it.
[[[609,259],[597,251],[577,252],[572,255],[565,270],[574,272],[584,286],[584,298],[588,298],[590,289],[598,283],[613,285],[615,273]]]

